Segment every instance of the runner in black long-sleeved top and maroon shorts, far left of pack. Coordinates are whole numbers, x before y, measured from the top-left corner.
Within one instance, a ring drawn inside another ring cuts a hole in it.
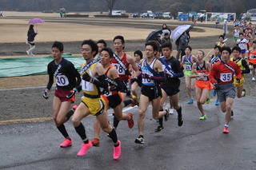
[[[68,113],[71,103],[74,103],[74,93],[70,98],[66,97],[66,95],[69,95],[70,92],[72,92],[72,89],[74,89],[74,91],[77,90],[81,83],[81,77],[78,70],[74,68],[74,65],[65,58],[62,58],[63,49],[62,42],[54,42],[52,45],[52,55],[54,60],[50,61],[47,66],[49,81],[46,90],[43,93],[43,97],[48,99],[48,93],[54,84],[55,77],[56,88],[53,101],[54,122],[59,132],[65,137],[65,140],[60,144],[60,147],[66,148],[72,145],[72,140],[66,132],[64,123],[68,121],[74,113]]]

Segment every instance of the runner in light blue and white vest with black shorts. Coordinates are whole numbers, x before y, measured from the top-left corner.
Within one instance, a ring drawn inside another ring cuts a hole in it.
[[[160,112],[160,99],[162,97],[161,89],[159,87],[160,81],[165,81],[165,76],[162,71],[162,64],[158,59],[154,57],[158,53],[158,45],[154,42],[146,42],[146,58],[142,61],[142,94],[140,97],[139,116],[138,116],[138,138],[135,139],[135,143],[144,144],[143,128],[144,117],[146,109],[152,102],[152,117],[157,120],[161,117],[165,117],[167,121],[169,113],[166,111]],[[135,78],[134,78],[135,79]],[[134,80],[132,79],[132,80]]]

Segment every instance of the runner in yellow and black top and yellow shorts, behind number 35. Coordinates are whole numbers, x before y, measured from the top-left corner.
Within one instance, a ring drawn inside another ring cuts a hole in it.
[[[231,57],[230,61],[236,62],[242,71],[242,78],[241,78],[240,82],[236,81],[237,77],[234,75],[234,85],[237,88],[237,96],[238,96],[238,98],[245,97],[246,90],[243,89],[243,84],[245,83],[245,73],[250,73],[250,69],[249,69],[249,66],[247,65],[246,60],[244,60],[244,59],[242,59],[242,57],[240,57],[241,49],[239,46],[234,46],[232,48],[232,54],[234,57]]]

